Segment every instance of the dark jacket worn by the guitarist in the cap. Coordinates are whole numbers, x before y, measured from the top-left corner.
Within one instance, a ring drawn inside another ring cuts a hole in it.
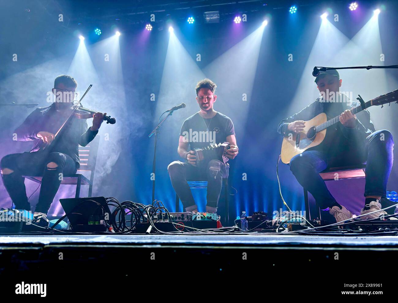
[[[348,99],[348,98],[347,98]],[[278,133],[283,136],[288,136],[289,133],[292,133],[287,129],[287,125],[296,120],[304,120],[308,121],[318,114],[325,112],[324,104],[322,97],[317,98],[314,102],[312,102],[307,107],[303,108],[297,114],[293,116],[283,119],[278,125]],[[348,100],[349,102],[341,103],[341,112],[344,110],[350,110],[352,107],[359,106],[359,102]],[[340,114],[341,114],[340,112]],[[336,114],[335,116],[338,116]],[[328,116],[328,120],[333,117]],[[363,145],[365,142],[365,138],[369,136],[371,133],[375,131],[375,125],[373,125],[370,113],[368,110],[363,110],[356,114],[357,116],[357,125],[355,128],[347,128],[344,127],[340,122],[334,124],[327,128],[326,130],[326,138],[324,142],[322,142],[318,147],[313,147],[312,149],[321,149],[324,150],[327,154],[339,153],[342,149],[344,150],[355,150],[359,146]]]

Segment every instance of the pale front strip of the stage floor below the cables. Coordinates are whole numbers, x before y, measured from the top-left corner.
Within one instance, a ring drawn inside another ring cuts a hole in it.
[[[1,235],[0,249],[7,246],[28,248],[46,245],[129,245],[129,246],[205,246],[205,247],[345,247],[367,249],[398,248],[397,236],[307,236],[307,235]]]

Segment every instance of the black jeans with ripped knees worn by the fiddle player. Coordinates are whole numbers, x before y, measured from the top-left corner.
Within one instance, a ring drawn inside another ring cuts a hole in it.
[[[4,187],[16,209],[30,210],[23,176],[43,176],[35,211],[47,214],[63,175],[76,174],[78,164],[70,156],[60,152],[23,152],[4,156],[0,161],[0,168]],[[12,172],[7,174],[9,170]]]

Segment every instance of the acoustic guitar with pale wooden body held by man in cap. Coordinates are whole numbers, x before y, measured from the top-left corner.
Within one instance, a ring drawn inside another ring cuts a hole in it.
[[[380,95],[377,98],[363,101],[360,95],[357,100],[361,105],[351,109],[352,114],[357,114],[362,110],[374,105],[390,104],[390,102],[398,103],[398,89],[385,95]],[[326,129],[338,122],[340,115],[333,119],[326,120],[326,114],[320,113],[311,120],[305,121],[304,130],[301,133],[292,133],[285,136],[282,142],[281,160],[283,163],[288,164],[290,160],[297,154],[301,154],[310,147],[314,147],[322,143],[325,139]]]

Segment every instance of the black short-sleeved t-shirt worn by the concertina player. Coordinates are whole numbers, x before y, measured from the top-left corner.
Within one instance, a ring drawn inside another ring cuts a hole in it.
[[[232,120],[219,112],[209,119],[196,113],[185,119],[179,135],[187,140],[193,150],[226,142],[227,136],[235,135],[235,129]]]

